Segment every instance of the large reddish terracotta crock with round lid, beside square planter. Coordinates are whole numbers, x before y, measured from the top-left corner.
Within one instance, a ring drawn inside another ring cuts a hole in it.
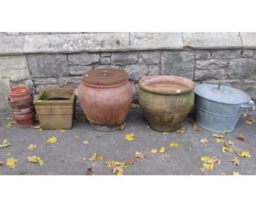
[[[131,108],[134,85],[120,69],[94,69],[84,72],[75,93],[90,125],[100,131],[113,131],[123,125]]]

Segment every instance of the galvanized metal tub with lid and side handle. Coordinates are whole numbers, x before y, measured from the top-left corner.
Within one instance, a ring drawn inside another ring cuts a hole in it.
[[[233,131],[243,109],[254,107],[247,93],[223,84],[197,85],[194,92],[196,124],[208,131]]]

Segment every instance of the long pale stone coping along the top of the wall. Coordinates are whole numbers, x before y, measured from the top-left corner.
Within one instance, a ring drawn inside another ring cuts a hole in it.
[[[0,56],[184,48],[256,49],[256,33],[0,33]]]

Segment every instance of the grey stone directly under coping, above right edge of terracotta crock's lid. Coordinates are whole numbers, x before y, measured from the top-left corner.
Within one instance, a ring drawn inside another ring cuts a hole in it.
[[[138,56],[136,52],[120,52],[112,53],[111,63],[118,65],[134,64],[138,62]]]

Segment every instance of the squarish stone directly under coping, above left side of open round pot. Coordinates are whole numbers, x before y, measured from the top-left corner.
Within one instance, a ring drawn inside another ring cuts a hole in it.
[[[159,51],[141,51],[138,53],[139,64],[159,64],[160,52]]]

